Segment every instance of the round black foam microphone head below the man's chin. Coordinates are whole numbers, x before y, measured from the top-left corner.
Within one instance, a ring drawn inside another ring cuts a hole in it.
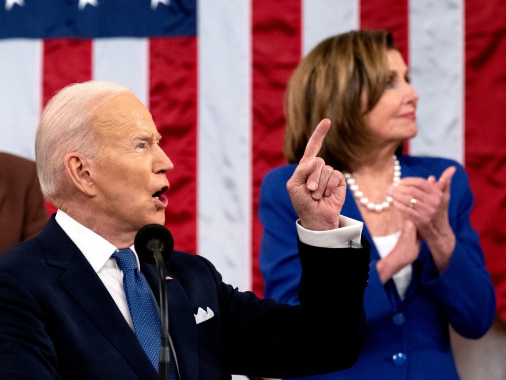
[[[154,264],[153,250],[158,248],[163,258],[168,258],[174,250],[174,239],[163,225],[147,224],[135,236],[134,247],[140,260]]]

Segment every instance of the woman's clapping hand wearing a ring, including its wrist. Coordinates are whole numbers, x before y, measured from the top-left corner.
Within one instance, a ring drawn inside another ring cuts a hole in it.
[[[455,247],[455,235],[448,220],[450,183],[454,173],[455,167],[450,166],[438,181],[434,176],[428,179],[403,178],[389,191],[394,206],[405,219],[413,222],[420,238],[426,241],[440,272],[446,268]]]

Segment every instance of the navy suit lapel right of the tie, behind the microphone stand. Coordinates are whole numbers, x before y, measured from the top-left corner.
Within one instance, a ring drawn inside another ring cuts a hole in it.
[[[168,270],[173,268],[170,261],[165,262],[165,274],[173,278],[165,282],[168,298],[168,329],[176,351],[181,380],[194,380],[199,378],[199,368],[195,365],[199,361],[197,325],[185,290],[178,281],[177,275]],[[141,271],[159,302],[160,291],[155,265],[141,263]]]

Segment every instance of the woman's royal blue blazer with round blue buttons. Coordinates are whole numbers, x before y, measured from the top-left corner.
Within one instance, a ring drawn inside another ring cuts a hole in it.
[[[413,274],[405,299],[401,301],[392,280],[385,286],[379,280],[371,249],[369,284],[365,291],[367,315],[362,352],[350,369],[309,377],[313,379],[426,380],[458,379],[448,336],[448,324],[468,338],[481,337],[495,316],[495,296],[485,270],[478,235],[472,229],[469,213],[473,196],[465,170],[456,162],[436,158],[401,156],[403,177],[439,178],[447,167],[457,170],[450,187],[449,221],[456,246],[448,268],[440,275],[425,242],[413,262]],[[260,194],[259,217],[264,226],[260,270],[265,280],[265,296],[296,305],[297,283],[302,268],[297,246],[293,210],[286,181],[296,165],[269,172]],[[363,220],[347,189],[343,215]],[[367,226],[363,235],[372,242]],[[303,272],[302,272],[303,273]],[[337,278],[336,274],[334,278]]]

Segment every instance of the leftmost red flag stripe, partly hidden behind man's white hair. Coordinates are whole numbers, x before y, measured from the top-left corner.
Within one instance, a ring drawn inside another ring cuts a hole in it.
[[[63,87],[92,79],[91,40],[56,39],[44,41],[43,106]],[[56,208],[46,202],[49,214]]]

